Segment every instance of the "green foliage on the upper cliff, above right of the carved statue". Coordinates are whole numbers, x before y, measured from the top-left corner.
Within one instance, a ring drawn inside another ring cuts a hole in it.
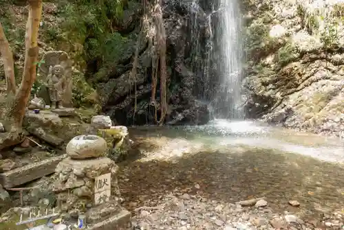
[[[122,17],[122,1],[61,1],[58,10],[65,19],[61,27],[67,41],[83,44],[84,60],[107,62],[118,56],[125,38],[116,33],[114,24]]]

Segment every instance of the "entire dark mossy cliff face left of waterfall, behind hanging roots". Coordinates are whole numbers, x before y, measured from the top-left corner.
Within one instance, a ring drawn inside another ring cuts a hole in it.
[[[40,56],[52,49],[66,51],[74,60],[76,69],[73,75],[74,106],[89,106],[98,100],[101,111],[122,125],[156,124],[151,99],[155,56],[149,47],[149,33],[155,31],[142,31],[142,2],[105,0],[97,6],[84,0],[43,2]],[[153,5],[154,2],[147,1],[147,4]],[[204,47],[209,25],[203,8],[210,9],[210,6],[206,1],[200,4],[193,1],[163,2],[169,104],[165,121],[169,124],[208,122],[208,108],[195,100],[193,90],[195,84],[202,85],[197,79],[200,74],[196,75],[194,70],[195,63],[204,62],[206,56]],[[1,3],[0,14],[14,49],[20,79],[27,14],[25,3],[19,0]],[[138,71],[133,79],[131,70],[140,36]],[[1,72],[0,79],[4,82]],[[39,84],[41,82],[36,82],[36,87]],[[156,89],[157,118],[160,119],[159,81]],[[98,96],[94,95],[94,90]]]

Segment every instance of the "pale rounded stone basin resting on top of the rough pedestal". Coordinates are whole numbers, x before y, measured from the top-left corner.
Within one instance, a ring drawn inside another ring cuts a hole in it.
[[[107,142],[96,135],[80,135],[69,141],[66,152],[72,159],[102,157],[107,154]]]

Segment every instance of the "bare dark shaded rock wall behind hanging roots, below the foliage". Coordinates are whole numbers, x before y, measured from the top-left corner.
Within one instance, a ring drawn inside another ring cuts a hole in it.
[[[208,21],[201,5],[192,1],[164,1],[164,26],[166,29],[166,64],[167,64],[167,103],[169,104],[166,123],[168,124],[205,124],[209,114],[206,104],[196,101],[195,84],[200,74],[195,71],[192,60],[197,56],[201,64],[206,56]],[[148,41],[140,44],[138,56],[138,74],[136,84],[131,78],[131,69],[136,41],[140,32],[142,9],[132,12],[133,25],[126,30],[129,41],[128,49],[120,60],[112,63],[94,75],[94,84],[103,98],[103,112],[110,115],[118,124],[143,125],[156,124],[155,108],[151,103],[152,54]],[[126,12],[126,14],[130,14]],[[127,23],[128,24],[128,23]],[[195,45],[197,44],[197,45]],[[93,78],[94,78],[93,77]],[[159,76],[158,76],[159,78]],[[135,86],[137,94],[135,96]],[[160,98],[158,82],[157,98]],[[135,97],[137,111],[134,115]],[[158,119],[160,111],[158,111]]]

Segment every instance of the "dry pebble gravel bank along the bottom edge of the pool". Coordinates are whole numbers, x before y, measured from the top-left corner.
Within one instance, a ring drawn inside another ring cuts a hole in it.
[[[133,209],[133,229],[344,229],[341,214],[324,216],[323,220],[302,220],[288,211],[275,213],[266,200],[243,207],[174,192],[153,202],[158,205]]]

